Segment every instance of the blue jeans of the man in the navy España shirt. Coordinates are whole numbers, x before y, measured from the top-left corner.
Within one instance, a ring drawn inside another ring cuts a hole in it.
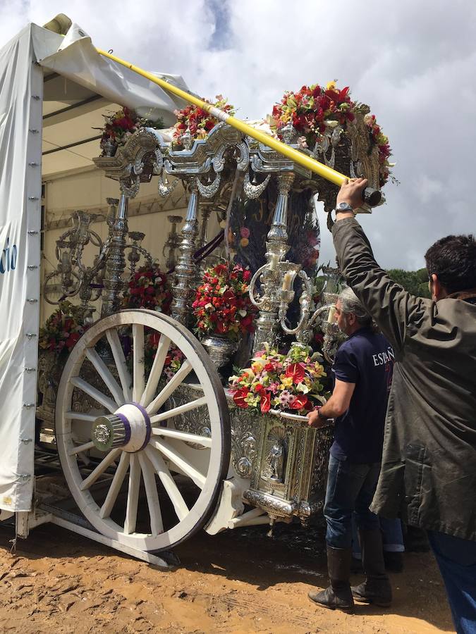
[[[353,463],[329,458],[324,517],[326,542],[334,548],[352,545],[352,514],[362,530],[380,528],[379,518],[369,510],[379,479],[380,463]]]

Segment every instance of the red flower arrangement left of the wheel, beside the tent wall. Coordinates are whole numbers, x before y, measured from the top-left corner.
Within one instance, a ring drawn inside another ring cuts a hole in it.
[[[61,302],[44,326],[39,329],[39,347],[57,355],[69,354],[81,335],[87,330],[83,325],[83,309],[71,302]]]

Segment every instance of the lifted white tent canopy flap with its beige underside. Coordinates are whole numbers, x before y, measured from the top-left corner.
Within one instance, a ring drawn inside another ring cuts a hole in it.
[[[100,56],[77,25],[66,37],[32,25],[32,35],[37,61],[45,69],[43,176],[89,166],[98,153],[102,115],[117,110],[116,104],[152,120],[161,118],[165,128],[175,123],[173,111],[182,108],[183,101]],[[187,89],[178,75],[154,74]]]

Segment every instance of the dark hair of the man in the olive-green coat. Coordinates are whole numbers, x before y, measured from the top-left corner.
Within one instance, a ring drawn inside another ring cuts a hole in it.
[[[448,294],[476,288],[476,240],[470,235],[447,235],[425,253],[428,275],[438,275]]]

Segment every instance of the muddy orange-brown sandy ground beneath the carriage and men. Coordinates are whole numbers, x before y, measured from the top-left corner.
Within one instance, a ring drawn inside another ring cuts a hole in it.
[[[453,632],[431,554],[405,554],[390,609],[354,615],[307,599],[327,585],[322,528],[254,527],[196,535],[161,571],[62,528],[36,528],[12,554],[0,524],[0,633]],[[355,576],[360,581],[360,576]]]

